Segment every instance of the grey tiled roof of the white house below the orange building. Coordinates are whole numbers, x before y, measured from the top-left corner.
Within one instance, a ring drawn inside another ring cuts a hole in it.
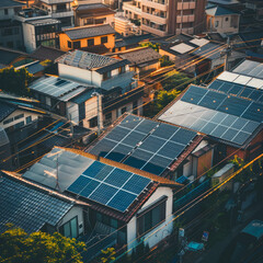
[[[58,58],[57,61],[72,67],[95,70],[100,73],[128,65],[126,59],[115,59],[81,50],[68,53]]]

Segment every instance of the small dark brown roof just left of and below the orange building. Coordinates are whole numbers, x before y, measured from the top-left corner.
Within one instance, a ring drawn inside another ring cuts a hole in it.
[[[66,53],[54,47],[39,46],[30,56],[41,61],[46,59],[54,61],[64,54]]]

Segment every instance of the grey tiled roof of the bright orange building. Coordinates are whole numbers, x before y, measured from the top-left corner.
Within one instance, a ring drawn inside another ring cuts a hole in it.
[[[75,27],[70,30],[65,30],[64,32],[71,41],[100,35],[115,34],[114,28],[108,24]]]

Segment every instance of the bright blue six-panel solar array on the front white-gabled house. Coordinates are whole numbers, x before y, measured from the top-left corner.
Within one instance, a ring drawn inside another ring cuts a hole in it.
[[[67,190],[124,213],[150,182],[148,178],[95,161]]]

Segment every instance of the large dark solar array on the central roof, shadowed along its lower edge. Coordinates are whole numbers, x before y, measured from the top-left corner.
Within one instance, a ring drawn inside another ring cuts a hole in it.
[[[184,128],[128,115],[90,152],[160,175],[195,136]]]

